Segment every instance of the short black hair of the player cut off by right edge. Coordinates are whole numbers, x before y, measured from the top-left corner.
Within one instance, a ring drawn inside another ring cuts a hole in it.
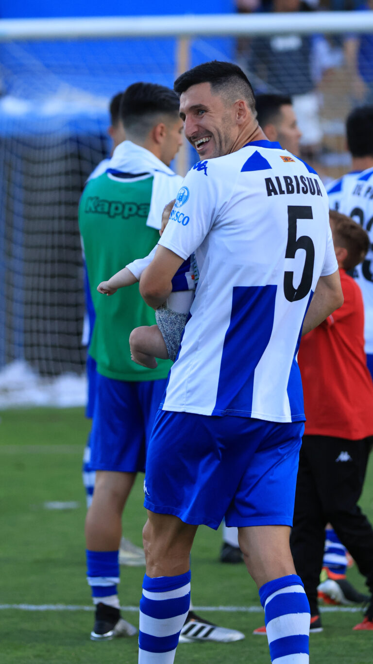
[[[350,112],[346,134],[352,157],[373,157],[373,106],[358,106]]]

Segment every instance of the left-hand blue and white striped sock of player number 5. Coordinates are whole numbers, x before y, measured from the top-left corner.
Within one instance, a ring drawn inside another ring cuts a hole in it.
[[[190,572],[144,576],[138,636],[139,664],[173,664],[190,604]]]

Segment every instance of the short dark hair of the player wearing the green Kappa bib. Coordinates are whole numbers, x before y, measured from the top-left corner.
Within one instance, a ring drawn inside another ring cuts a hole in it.
[[[157,120],[157,116],[179,114],[178,95],[166,86],[156,83],[133,83],[120,100],[120,118],[124,128],[145,135]]]

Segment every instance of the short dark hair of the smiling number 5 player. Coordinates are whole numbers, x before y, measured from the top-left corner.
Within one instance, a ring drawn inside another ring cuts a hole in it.
[[[237,64],[211,60],[198,64],[184,72],[174,83],[174,90],[180,96],[192,85],[209,83],[212,90],[226,91],[229,96],[239,95],[245,99],[251,112],[255,114],[255,95],[246,74]]]

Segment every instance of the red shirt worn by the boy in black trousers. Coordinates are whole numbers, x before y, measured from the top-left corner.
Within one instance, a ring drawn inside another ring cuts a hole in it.
[[[344,304],[301,341],[305,435],[360,440],[373,435],[373,382],[364,353],[358,284],[340,270]]]

